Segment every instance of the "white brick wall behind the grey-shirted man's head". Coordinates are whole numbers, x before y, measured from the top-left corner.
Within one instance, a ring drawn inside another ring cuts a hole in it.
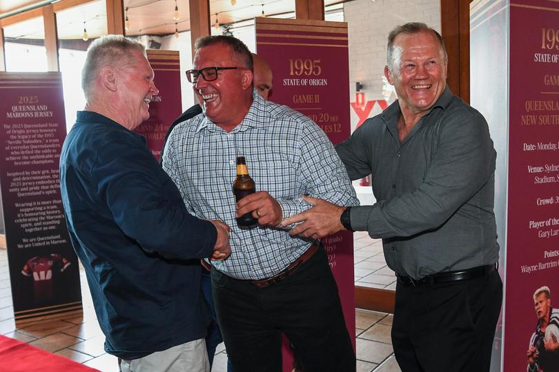
[[[424,22],[440,32],[440,0],[355,0],[344,3],[349,28],[349,94],[355,101],[355,81],[364,85],[366,100],[382,97],[386,37],[397,25]],[[377,105],[369,116],[380,112]],[[351,130],[357,115],[351,109]]]

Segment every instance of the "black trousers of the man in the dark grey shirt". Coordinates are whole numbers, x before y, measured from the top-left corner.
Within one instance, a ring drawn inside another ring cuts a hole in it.
[[[489,371],[501,303],[498,271],[431,287],[398,281],[392,344],[402,372]]]

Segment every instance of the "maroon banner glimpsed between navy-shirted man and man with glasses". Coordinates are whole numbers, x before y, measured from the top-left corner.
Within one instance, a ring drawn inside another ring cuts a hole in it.
[[[159,94],[150,103],[150,118],[134,132],[146,137],[146,145],[159,161],[165,135],[171,123],[182,114],[179,52],[147,50],[147,54]]]

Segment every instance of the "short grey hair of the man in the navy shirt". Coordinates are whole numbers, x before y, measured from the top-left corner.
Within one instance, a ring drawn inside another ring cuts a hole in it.
[[[86,63],[81,70],[81,89],[86,99],[90,96],[90,85],[105,66],[125,67],[131,63],[134,52],[146,54],[141,43],[126,39],[122,35],[106,35],[93,41],[86,54]]]

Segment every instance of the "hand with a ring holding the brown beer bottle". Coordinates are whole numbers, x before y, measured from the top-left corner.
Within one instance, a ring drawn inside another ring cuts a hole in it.
[[[251,213],[258,225],[277,227],[282,222],[282,207],[268,192],[250,194],[239,200],[235,217]]]

